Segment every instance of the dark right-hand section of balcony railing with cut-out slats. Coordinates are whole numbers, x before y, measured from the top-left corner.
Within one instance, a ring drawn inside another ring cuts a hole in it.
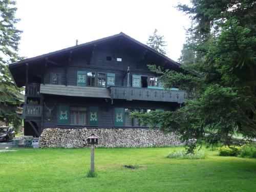
[[[108,88],[111,99],[144,100],[144,101],[165,101],[183,103],[186,98],[185,91],[118,87],[111,86]]]

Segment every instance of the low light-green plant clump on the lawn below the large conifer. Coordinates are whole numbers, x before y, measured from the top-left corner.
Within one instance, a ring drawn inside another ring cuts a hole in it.
[[[172,159],[206,159],[206,155],[203,151],[198,151],[194,154],[186,154],[186,152],[172,152],[167,156]]]

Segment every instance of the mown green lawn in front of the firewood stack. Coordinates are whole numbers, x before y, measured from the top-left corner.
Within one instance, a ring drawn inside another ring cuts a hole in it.
[[[208,150],[205,160],[166,158],[177,149],[96,148],[97,177],[87,178],[89,148],[19,148],[0,153],[0,191],[256,190],[255,159],[219,157]]]

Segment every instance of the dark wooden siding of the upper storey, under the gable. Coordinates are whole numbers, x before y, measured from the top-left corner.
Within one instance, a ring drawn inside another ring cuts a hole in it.
[[[138,54],[133,53],[127,48],[119,48],[115,53],[115,46],[97,46],[88,62],[88,55],[74,53],[71,61],[67,66],[67,84],[69,86],[76,86],[77,71],[95,72],[95,73],[115,73],[116,86],[127,85],[127,75],[125,72],[130,67],[130,85],[132,84],[132,75],[156,76],[147,68],[147,64],[154,64],[154,62],[141,60]],[[89,54],[89,53],[87,53]],[[112,57],[112,61],[106,60],[107,56]],[[122,61],[116,61],[116,57],[122,58]],[[62,63],[66,65],[66,63]],[[51,74],[60,73],[61,83],[66,83],[66,74],[64,67],[48,67],[45,72],[44,82],[51,83]]]

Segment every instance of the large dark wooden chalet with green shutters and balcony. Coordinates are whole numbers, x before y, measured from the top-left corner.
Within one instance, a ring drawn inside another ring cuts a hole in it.
[[[138,128],[129,113],[175,110],[185,92],[164,90],[148,64],[181,71],[179,63],[119,33],[9,65],[26,87],[25,135],[51,127]],[[144,127],[147,128],[147,127]]]

